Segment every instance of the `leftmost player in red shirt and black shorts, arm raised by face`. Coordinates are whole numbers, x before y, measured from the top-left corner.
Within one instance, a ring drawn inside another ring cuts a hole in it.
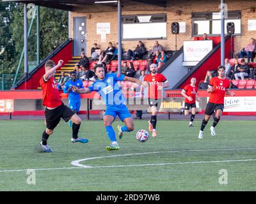
[[[47,145],[49,135],[53,133],[53,129],[59,124],[62,118],[67,122],[71,120],[73,122],[72,130],[73,135],[71,141],[87,143],[86,138],[78,138],[78,131],[81,124],[80,117],[73,112],[68,106],[64,105],[60,98],[58,91],[58,83],[54,78],[56,69],[60,68],[62,60],[57,65],[51,60],[45,62],[45,75],[40,79],[40,85],[43,91],[43,105],[45,108],[45,121],[46,129],[42,135],[42,142],[40,143],[44,152],[51,152],[50,147]]]

